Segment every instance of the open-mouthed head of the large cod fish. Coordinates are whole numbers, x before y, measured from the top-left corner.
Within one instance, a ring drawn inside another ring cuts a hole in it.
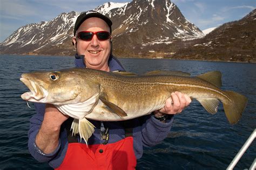
[[[20,80],[30,90],[21,98],[36,103],[82,103],[99,91],[99,86],[75,71],[23,73]]]

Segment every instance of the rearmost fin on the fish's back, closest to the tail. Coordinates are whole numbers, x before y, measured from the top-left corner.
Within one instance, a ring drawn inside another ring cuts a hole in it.
[[[197,78],[203,79],[205,81],[208,81],[209,83],[221,87],[221,72],[220,71],[211,71],[204,74],[200,74],[197,76]]]

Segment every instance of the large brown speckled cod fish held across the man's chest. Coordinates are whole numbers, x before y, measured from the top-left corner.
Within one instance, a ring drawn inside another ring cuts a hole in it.
[[[22,99],[53,104],[63,114],[75,118],[71,129],[85,141],[94,132],[87,119],[121,121],[141,117],[163,108],[175,91],[198,100],[212,114],[217,113],[221,101],[231,124],[238,122],[247,103],[245,96],[219,89],[219,71],[190,77],[175,71],[133,75],[75,68],[23,73],[20,80],[30,90],[22,94]]]

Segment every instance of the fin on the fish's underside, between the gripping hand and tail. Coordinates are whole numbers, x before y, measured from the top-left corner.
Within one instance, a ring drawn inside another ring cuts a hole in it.
[[[211,114],[215,114],[218,111],[219,100],[218,99],[197,99],[205,110]]]

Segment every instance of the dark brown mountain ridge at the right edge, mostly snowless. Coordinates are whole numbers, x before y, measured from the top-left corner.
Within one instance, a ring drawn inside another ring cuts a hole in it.
[[[238,21],[225,23],[204,38],[192,40],[172,58],[256,62],[256,9]]]

